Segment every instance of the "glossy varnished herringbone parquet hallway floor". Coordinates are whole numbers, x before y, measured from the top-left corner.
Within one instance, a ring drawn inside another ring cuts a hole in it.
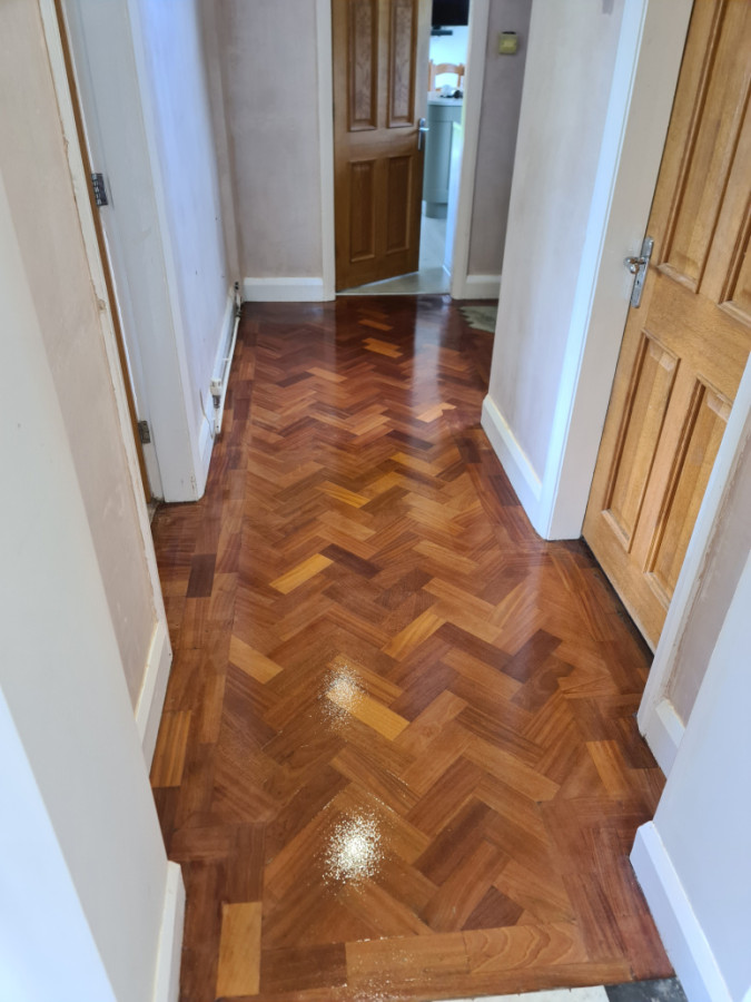
[[[629,864],[648,651],[518,507],[491,343],[439,296],[244,308],[206,497],[154,522],[182,1002],[671,973]]]

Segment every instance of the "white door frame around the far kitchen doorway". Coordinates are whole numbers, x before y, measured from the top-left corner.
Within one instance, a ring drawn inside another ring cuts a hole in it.
[[[466,297],[465,289],[470,266],[470,228],[472,226],[490,10],[491,0],[471,0],[467,72],[464,87],[464,144],[452,252],[453,264],[451,268],[451,294],[457,299]],[[316,0],[316,46],[318,56],[323,297],[324,301],[330,301],[336,297],[332,0]]]

